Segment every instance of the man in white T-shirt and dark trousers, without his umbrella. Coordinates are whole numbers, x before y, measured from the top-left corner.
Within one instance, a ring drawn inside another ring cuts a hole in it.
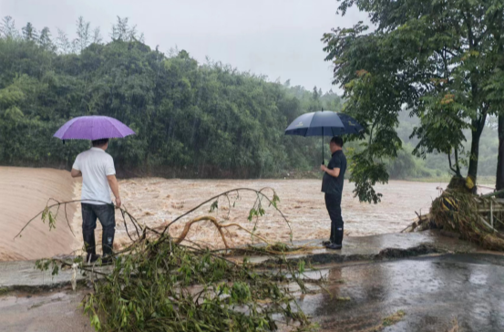
[[[105,151],[108,139],[93,140],[93,147],[77,156],[72,166],[74,178],[82,176],[82,235],[87,251],[87,263],[97,261],[95,228],[97,218],[101,223],[103,262],[112,254],[116,213],[110,199],[110,191],[116,197],[116,205],[121,206],[118,180],[112,157]]]

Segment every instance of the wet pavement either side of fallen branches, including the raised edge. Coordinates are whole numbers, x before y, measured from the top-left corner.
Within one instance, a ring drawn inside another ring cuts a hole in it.
[[[328,278],[328,292],[299,300],[322,331],[504,331],[504,254],[429,231],[347,238],[341,252],[303,257],[323,264],[312,277]],[[91,331],[78,308],[86,288],[47,291],[66,285],[69,271],[52,278],[33,266],[0,263],[0,331]],[[382,325],[400,310],[399,322]]]

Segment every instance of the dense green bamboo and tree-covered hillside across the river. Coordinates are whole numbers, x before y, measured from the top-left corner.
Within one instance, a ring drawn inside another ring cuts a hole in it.
[[[107,44],[82,17],[75,38],[42,36],[0,38],[3,165],[69,169],[88,143],[63,145],[52,135],[68,119],[99,114],[137,132],[110,144],[119,175],[282,176],[320,162],[320,138],[284,137],[290,121],[342,105],[333,92],[315,88],[315,96],[221,63],[200,64],[184,50],[152,50],[127,18],[118,17]]]

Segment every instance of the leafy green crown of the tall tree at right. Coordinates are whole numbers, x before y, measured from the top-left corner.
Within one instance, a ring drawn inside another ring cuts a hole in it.
[[[339,12],[345,15],[352,5],[369,13],[375,31],[359,22],[333,29],[323,41],[326,60],[334,62],[334,84],[345,88],[346,111],[367,128],[352,170],[355,193],[379,201],[373,185],[387,182],[383,161],[401,149],[401,109],[420,119],[411,133],[418,139],[416,155],[446,153],[450,169],[460,175],[459,165],[467,163],[476,183],[479,139],[487,117],[499,112],[489,94],[499,69],[501,2],[343,0]],[[471,131],[468,153],[465,129]]]

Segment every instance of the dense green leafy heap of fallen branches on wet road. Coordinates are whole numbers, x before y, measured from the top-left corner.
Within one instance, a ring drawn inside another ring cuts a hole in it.
[[[84,301],[98,331],[271,331],[277,329],[275,314],[301,323],[298,330],[310,328],[278,283],[289,280],[283,273],[259,273],[250,263],[236,265],[165,236],[142,242],[115,261]],[[278,265],[301,275],[286,261]]]

